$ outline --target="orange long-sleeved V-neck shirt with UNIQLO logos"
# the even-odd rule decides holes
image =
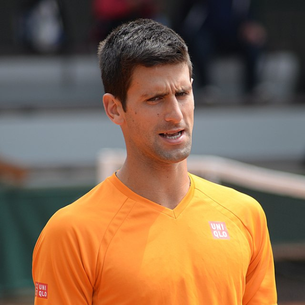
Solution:
[[[190,178],[173,210],[113,174],[57,211],[34,250],[35,304],[276,304],[261,206]]]

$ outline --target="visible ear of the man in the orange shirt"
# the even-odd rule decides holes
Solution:
[[[124,110],[121,102],[112,94],[106,93],[103,96],[103,104],[107,116],[114,124],[122,125],[124,123]]]

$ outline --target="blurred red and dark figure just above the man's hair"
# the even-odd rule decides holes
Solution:
[[[156,0],[93,0],[94,40],[100,42],[116,26],[136,18],[157,19]]]

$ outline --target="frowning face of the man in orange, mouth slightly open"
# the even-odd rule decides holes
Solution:
[[[187,64],[135,68],[126,105],[121,128],[129,157],[164,164],[189,156],[194,97]]]

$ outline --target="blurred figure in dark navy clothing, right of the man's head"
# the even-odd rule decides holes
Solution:
[[[250,0],[185,0],[177,31],[187,41],[195,71],[195,87],[210,85],[212,56],[240,54],[245,61],[244,90],[252,94],[258,84],[258,60],[266,32],[253,16]]]

